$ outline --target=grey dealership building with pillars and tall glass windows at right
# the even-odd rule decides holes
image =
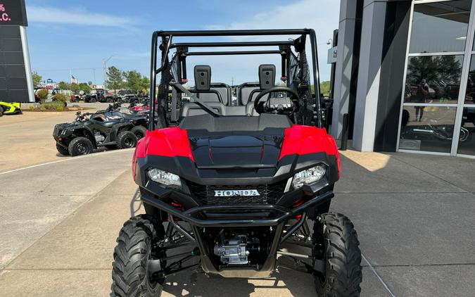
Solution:
[[[471,0],[341,0],[331,134],[475,158],[474,34]]]

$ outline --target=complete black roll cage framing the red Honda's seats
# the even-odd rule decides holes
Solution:
[[[300,38],[310,37],[312,49],[312,74],[314,83],[315,107],[314,114],[317,115],[316,125],[322,127],[322,114],[320,112],[320,84],[317,53],[317,35],[313,29],[276,29],[276,30],[191,30],[191,31],[155,31],[152,34],[151,46],[151,72],[150,72],[150,125],[149,129],[153,131],[156,127],[156,80],[157,75],[166,67],[167,56],[170,49],[188,48],[188,47],[237,47],[237,46],[295,46],[296,39],[283,41],[264,41],[264,42],[183,42],[172,43],[173,37],[232,37],[232,36],[271,36],[271,35],[300,35]],[[161,37],[160,50],[162,59],[160,67],[157,68],[158,37]],[[281,53],[281,51],[206,51],[206,52],[187,52],[187,56],[210,56],[210,55],[251,55],[264,53]],[[284,68],[284,65],[282,65]],[[157,105],[161,102],[157,98]]]

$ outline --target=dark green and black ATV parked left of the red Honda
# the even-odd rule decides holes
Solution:
[[[73,122],[54,126],[53,137],[61,155],[80,156],[94,148],[133,148],[137,145],[133,128],[132,122],[119,116],[78,111]]]

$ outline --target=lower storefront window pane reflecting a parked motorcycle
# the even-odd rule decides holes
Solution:
[[[404,106],[399,149],[450,153],[455,107]]]

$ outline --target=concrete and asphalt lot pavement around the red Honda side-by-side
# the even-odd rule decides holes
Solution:
[[[13,135],[8,141],[37,129],[13,148],[0,143],[6,159],[21,160],[0,161],[1,296],[108,296],[115,238],[128,217],[143,212],[130,172],[132,150],[56,156],[51,125],[72,115],[32,120],[25,113],[17,125],[13,117],[0,119],[1,130]],[[22,159],[25,148],[31,155]],[[465,158],[343,153],[332,209],[355,223],[364,255],[362,296],[474,296],[473,172],[475,160]],[[167,279],[165,291],[315,296],[310,275],[284,268],[252,280],[208,279],[191,270]]]

